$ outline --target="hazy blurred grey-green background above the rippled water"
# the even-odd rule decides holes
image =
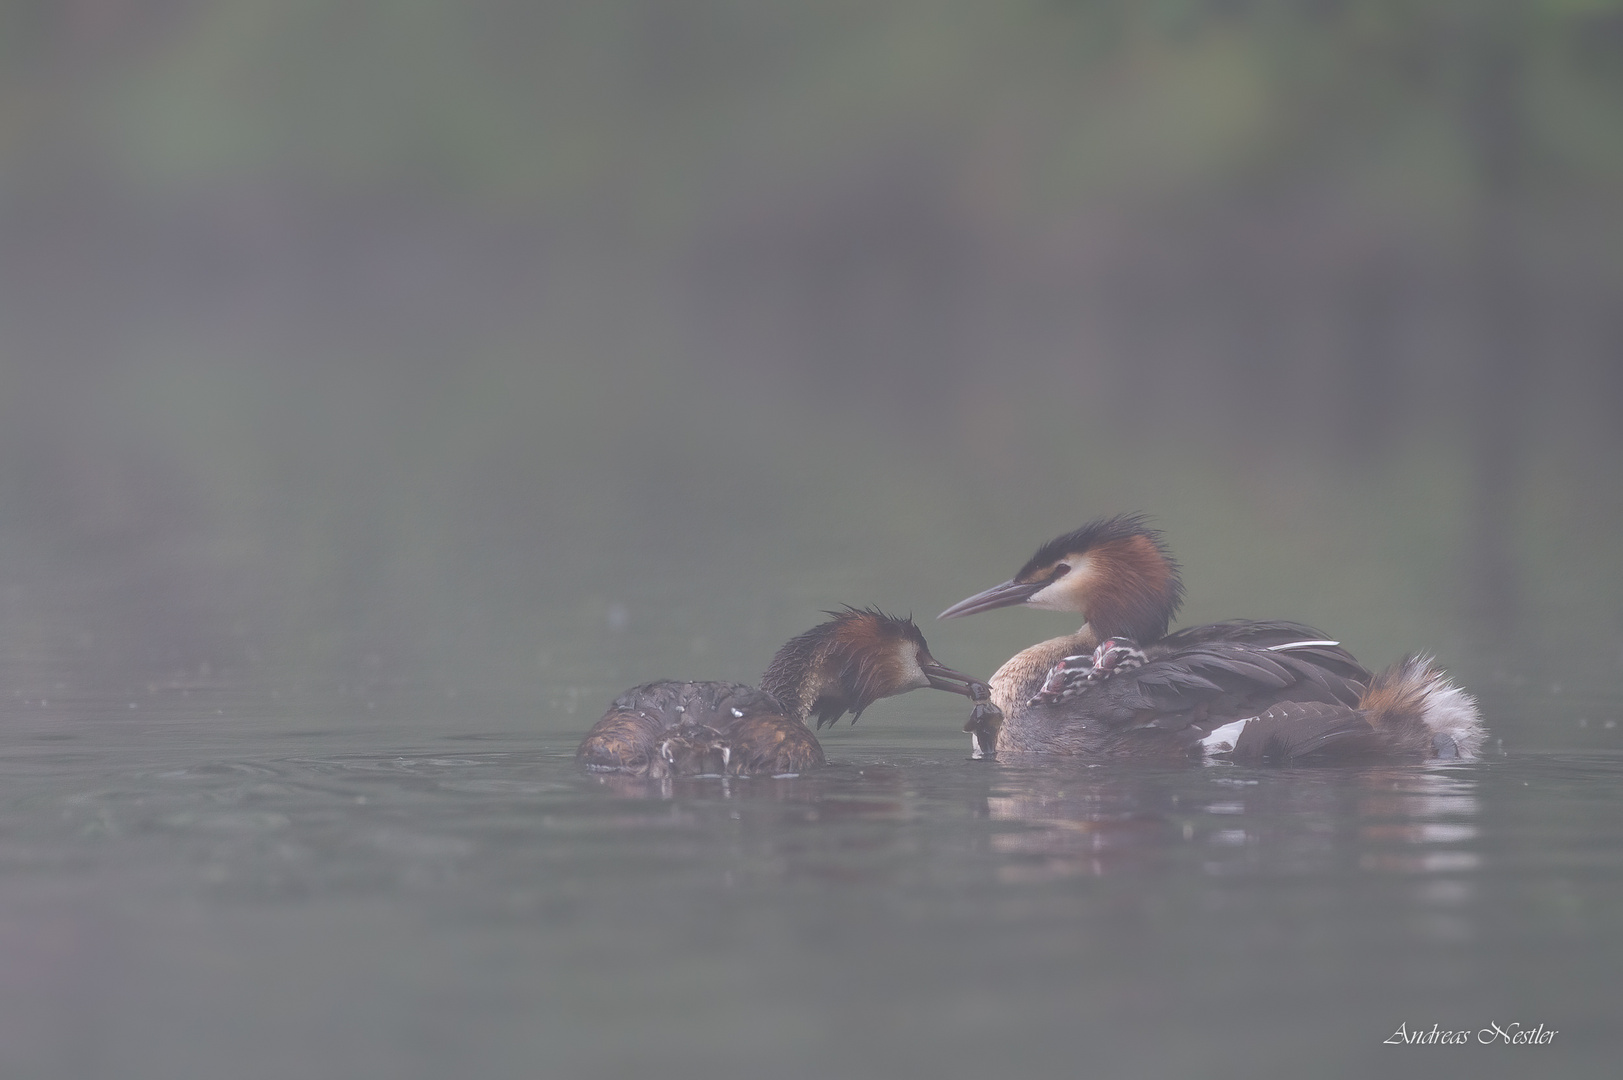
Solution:
[[[13,0],[0,664],[562,745],[1139,510],[1586,745],[1620,299],[1610,0]]]

